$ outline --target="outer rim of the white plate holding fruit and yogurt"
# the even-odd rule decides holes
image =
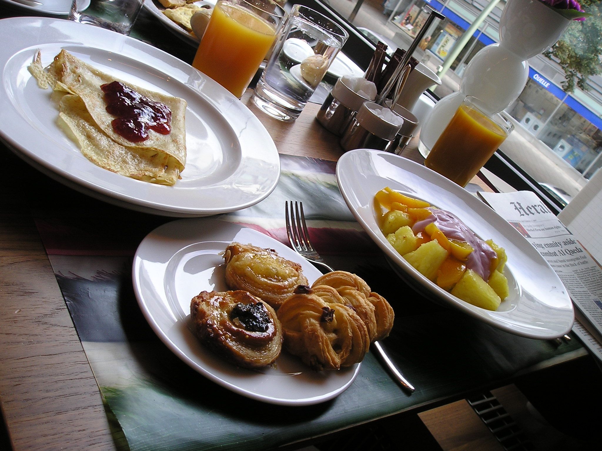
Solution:
[[[394,263],[396,263],[398,268],[400,268],[403,272],[405,272],[405,274],[407,274],[409,277],[411,277],[415,283],[420,284],[420,286],[423,287],[423,289],[425,289],[429,292],[429,295],[427,295],[427,297],[437,298],[439,300],[442,300],[445,302],[446,305],[450,305],[455,308],[458,308],[458,310],[463,311],[464,313],[470,315],[471,317],[473,317],[475,319],[479,319],[480,321],[483,321],[486,324],[489,324],[493,327],[499,328],[500,330],[503,330],[503,331],[506,331],[508,333],[512,333],[512,334],[515,334],[518,336],[523,336],[523,337],[532,338],[532,339],[556,339],[558,337],[562,337],[563,335],[565,335],[565,334],[569,333],[569,331],[571,331],[571,328],[573,327],[573,324],[574,324],[574,306],[573,306],[573,301],[571,301],[571,299],[568,296],[568,292],[566,292],[566,289],[563,290],[563,295],[564,295],[563,297],[566,299],[566,308],[564,308],[563,311],[566,311],[567,314],[568,314],[568,311],[570,311],[572,319],[571,319],[571,321],[567,322],[567,324],[565,325],[565,329],[562,331],[562,333],[558,333],[558,332],[552,333],[553,331],[551,330],[549,325],[547,327],[548,333],[541,333],[541,332],[538,333],[536,331],[536,328],[533,325],[528,325],[529,331],[518,330],[517,328],[512,328],[509,325],[506,325],[503,322],[496,320],[496,318],[494,316],[492,316],[492,314],[493,315],[504,314],[503,311],[485,310],[480,307],[477,307],[476,305],[469,304],[466,301],[462,301],[462,299],[456,298],[456,296],[453,296],[453,295],[451,295],[451,293],[448,293],[447,291],[436,286],[435,283],[433,283],[432,281],[430,281],[426,277],[424,277],[422,274],[420,274],[420,272],[418,272],[413,266],[409,265],[409,263],[407,263],[405,261],[405,259],[403,259],[403,257],[399,255],[399,253],[397,253],[394,250],[389,249],[382,242],[382,239],[380,239],[380,237],[376,234],[376,232],[374,230],[371,230],[371,228],[368,226],[368,224],[364,221],[364,218],[362,218],[362,216],[359,214],[359,212],[356,211],[355,207],[353,207],[353,203],[350,201],[349,193],[347,192],[347,189],[346,189],[347,187],[343,186],[344,184],[341,184],[340,171],[341,171],[342,165],[345,164],[345,162],[348,159],[351,159],[356,154],[362,153],[362,152],[373,153],[373,155],[386,155],[386,156],[388,156],[388,158],[394,158],[396,160],[399,159],[399,161],[402,162],[402,165],[397,166],[397,167],[402,168],[403,170],[410,171],[408,169],[408,167],[409,167],[409,168],[416,168],[416,169],[420,168],[421,171],[427,171],[429,173],[429,175],[435,177],[436,180],[441,182],[444,185],[444,188],[449,187],[452,190],[462,189],[465,192],[463,197],[467,200],[467,203],[482,202],[482,201],[480,201],[478,198],[474,197],[468,191],[465,191],[464,188],[459,187],[458,185],[451,182],[450,180],[445,179],[445,177],[442,177],[440,174],[435,173],[435,171],[432,171],[429,168],[426,168],[423,165],[418,164],[417,162],[414,162],[403,156],[396,155],[394,153],[382,152],[382,151],[374,150],[374,149],[355,149],[355,150],[351,150],[349,152],[344,153],[343,156],[341,156],[341,158],[337,162],[337,169],[336,169],[337,183],[339,185],[341,194],[343,195],[343,198],[344,198],[347,206],[353,213],[353,216],[356,218],[356,220],[362,226],[362,229],[364,229],[364,231],[368,234],[368,236],[370,236],[370,238],[374,241],[374,243],[383,251],[383,253],[386,254],[386,257],[388,257],[388,259],[390,259]],[[343,161],[343,163],[341,163],[341,165],[340,165],[341,161]],[[406,167],[402,167],[402,166],[406,166]],[[421,177],[421,179],[424,180],[422,177]],[[424,180],[424,181],[427,182],[426,180]],[[430,183],[430,182],[427,182],[427,183]],[[464,198],[462,200],[464,200]],[[486,206],[486,204],[483,203],[483,206]],[[491,209],[491,212],[488,212],[488,213],[490,215],[494,216],[495,218],[497,218],[497,220],[503,221],[504,224],[507,224],[507,221],[502,216],[500,216],[497,212],[495,212],[493,209]],[[481,215],[479,215],[479,216],[482,218]],[[486,221],[485,218],[482,218],[482,219]],[[489,221],[486,221],[486,222],[489,222]],[[512,225],[510,225],[510,224],[507,224],[507,226],[512,227]],[[506,226],[504,225],[504,228],[505,227]],[[507,229],[507,230],[510,230],[510,229]],[[515,232],[517,234],[517,235],[515,235],[517,239],[524,240],[524,244],[528,245],[529,247],[532,247],[532,245],[523,236],[521,236],[520,233],[518,233],[518,231],[514,229],[514,227],[512,227],[512,232],[511,232],[512,235],[514,235]],[[382,235],[382,233],[381,233],[381,235]],[[539,253],[537,255],[539,256]],[[559,284],[560,286],[563,286],[562,281],[560,281],[560,278],[558,277],[556,272],[554,272],[554,270],[551,268],[549,263],[546,262],[545,259],[541,256],[539,256],[538,259],[541,259],[538,263],[544,264],[545,266],[547,266],[547,271],[554,278],[554,280],[557,282],[557,284]],[[521,298],[522,298],[522,296],[521,296]],[[479,314],[480,311],[490,312],[490,313],[487,315]],[[568,318],[568,316],[567,316],[567,318]],[[527,324],[523,324],[523,326],[526,327]]]

